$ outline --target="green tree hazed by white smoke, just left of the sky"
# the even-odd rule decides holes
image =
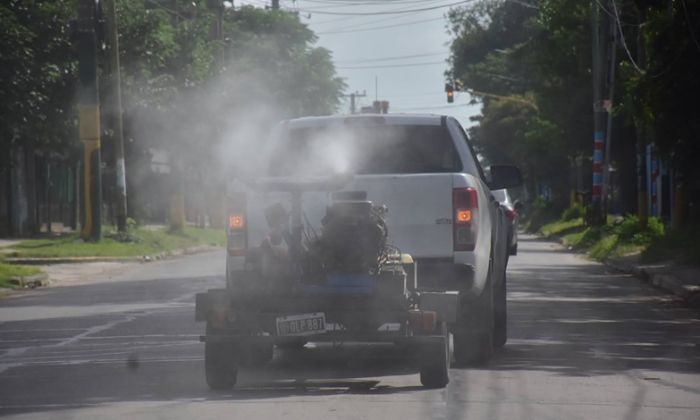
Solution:
[[[201,1],[119,7],[130,152],[166,150],[169,188],[197,202],[220,196],[228,167],[254,162],[275,121],[333,112],[344,89],[330,52],[312,46],[295,14],[228,7],[219,32],[218,12]]]

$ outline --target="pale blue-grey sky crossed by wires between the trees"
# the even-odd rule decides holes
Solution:
[[[376,99],[389,112],[452,115],[465,127],[479,113],[469,94],[456,93],[448,104],[444,72],[450,36],[445,17],[457,0],[280,0],[282,9],[298,11],[317,34],[317,46],[329,49],[347,93],[366,93],[357,108]],[[238,0],[264,7],[269,0]],[[339,110],[349,112],[349,100]]]

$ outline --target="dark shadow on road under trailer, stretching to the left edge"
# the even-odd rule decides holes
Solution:
[[[393,346],[348,344],[276,350],[262,367],[241,368],[236,388],[210,391],[202,360],[143,360],[79,365],[33,365],[3,375],[0,412],[27,413],[134,401],[248,400],[343,394],[386,395],[418,391],[417,382],[390,386],[385,376],[415,368]]]

